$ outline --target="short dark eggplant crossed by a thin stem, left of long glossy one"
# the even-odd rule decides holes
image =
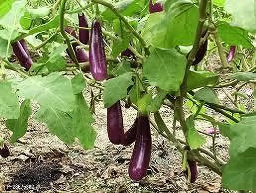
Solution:
[[[88,21],[84,13],[81,15],[78,14],[79,20],[79,41],[83,44],[87,44],[90,39],[89,29],[81,29],[81,28],[89,28]]]

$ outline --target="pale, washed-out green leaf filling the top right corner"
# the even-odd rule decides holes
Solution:
[[[232,15],[232,26],[243,28],[249,32],[256,32],[256,15],[254,0],[226,0],[225,9]]]

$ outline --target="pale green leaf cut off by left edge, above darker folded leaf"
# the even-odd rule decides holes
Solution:
[[[11,83],[0,81],[0,117],[17,119],[19,117],[19,103],[12,91]]]

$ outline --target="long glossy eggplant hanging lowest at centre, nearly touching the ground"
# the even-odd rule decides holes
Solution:
[[[129,176],[134,181],[140,181],[147,175],[151,159],[151,130],[148,116],[138,117],[136,142],[129,164]]]

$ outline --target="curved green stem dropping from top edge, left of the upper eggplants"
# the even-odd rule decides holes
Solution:
[[[65,14],[65,4],[66,4],[66,2],[67,2],[67,0],[61,0],[61,4],[60,4],[60,33],[68,44],[68,49],[70,51],[70,55],[71,55],[72,60],[75,62],[75,66],[78,69],[81,69],[81,67],[80,67],[80,65],[77,61],[77,58],[75,56],[75,51],[74,51],[74,49],[73,49],[73,47],[70,43],[70,40],[69,40],[67,34],[64,31],[64,14]]]

